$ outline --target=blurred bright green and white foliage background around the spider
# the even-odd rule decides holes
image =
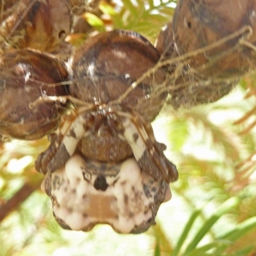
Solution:
[[[112,28],[138,31],[154,42],[176,2],[102,1],[100,10]],[[94,14],[84,17],[96,30],[107,26]],[[171,184],[173,198],[161,205],[156,227],[145,234],[120,235],[105,225],[88,233],[62,230],[33,167],[47,140],[1,143],[0,204],[13,196],[20,204],[1,221],[0,256],[255,255],[255,82],[255,74],[244,77],[214,104],[179,111],[164,106],[154,131],[180,177]],[[35,185],[26,198],[17,193],[24,184]]]

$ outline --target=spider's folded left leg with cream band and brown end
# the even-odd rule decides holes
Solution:
[[[61,168],[76,152],[81,138],[90,134],[89,118],[87,113],[67,118],[60,128],[60,134],[53,136],[51,145],[36,159],[36,170],[47,173]]]

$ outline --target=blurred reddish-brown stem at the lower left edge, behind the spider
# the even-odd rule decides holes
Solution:
[[[36,184],[25,183],[7,202],[0,205],[0,222],[10,214],[13,210],[19,207],[33,191],[40,187],[40,183]]]

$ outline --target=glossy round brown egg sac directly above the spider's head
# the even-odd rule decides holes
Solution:
[[[115,30],[87,40],[70,61],[70,94],[77,99],[100,105],[116,100],[131,84],[159,61],[156,48],[140,34]],[[138,111],[147,120],[159,113],[166,93],[160,90],[164,70],[155,70],[124,97],[120,106]]]

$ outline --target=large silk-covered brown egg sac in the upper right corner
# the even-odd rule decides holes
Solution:
[[[177,86],[177,90],[170,91],[170,103],[175,108],[220,99],[230,92],[239,76],[255,67],[256,54],[239,45],[241,38],[256,42],[255,0],[179,1],[172,23],[166,25],[157,42],[157,49],[166,59],[180,56],[177,65],[184,61],[182,55],[216,43],[244,26],[252,28],[250,38],[246,38],[248,33],[244,30],[232,40],[186,59],[180,76],[170,81],[170,85]],[[175,65],[170,70],[174,72]]]

